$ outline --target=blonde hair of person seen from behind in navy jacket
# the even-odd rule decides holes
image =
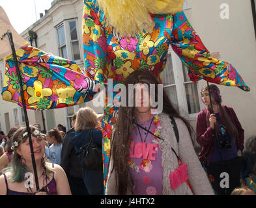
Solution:
[[[76,116],[76,123],[74,125],[75,131],[95,129],[99,125],[97,116],[98,114],[89,107],[79,109]]]

